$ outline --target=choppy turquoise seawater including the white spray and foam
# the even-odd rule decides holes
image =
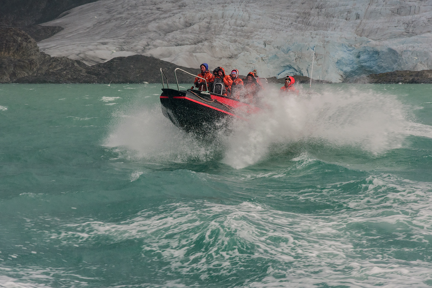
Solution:
[[[432,85],[269,90],[206,141],[160,88],[0,85],[1,287],[432,286]]]

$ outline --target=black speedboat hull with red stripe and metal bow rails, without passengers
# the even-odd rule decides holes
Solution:
[[[178,70],[200,78],[200,76],[177,68],[174,70],[176,81]],[[178,81],[177,90],[171,89],[168,87],[168,79],[162,68],[160,71],[163,87],[160,96],[162,113],[186,132],[206,134],[209,131],[226,127],[233,119],[246,120],[248,113],[256,113],[259,110],[249,103],[214,91],[180,90]],[[164,77],[167,88],[165,88]]]

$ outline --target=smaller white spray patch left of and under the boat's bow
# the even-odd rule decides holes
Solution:
[[[114,119],[117,123],[104,145],[119,147],[128,158],[154,163],[207,161],[217,150],[214,144],[204,145],[175,127],[162,115],[159,103],[133,111],[118,110]]]

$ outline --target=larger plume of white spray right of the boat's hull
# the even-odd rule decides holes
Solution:
[[[400,147],[407,121],[391,95],[373,91],[326,89],[281,96],[269,91],[268,109],[232,134],[224,162],[235,168],[256,163],[272,144],[324,143],[378,154]]]

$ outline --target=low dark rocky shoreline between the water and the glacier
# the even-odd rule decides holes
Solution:
[[[40,25],[38,25],[40,26]],[[45,26],[41,26],[45,27]],[[44,30],[45,28],[39,28]],[[48,28],[48,34],[58,28]],[[162,68],[168,83],[175,83],[174,69],[192,74],[199,69],[177,66],[154,57],[133,55],[116,57],[105,63],[88,66],[67,57],[52,57],[40,52],[38,44],[28,33],[18,28],[0,29],[0,83],[160,83]],[[192,83],[193,77],[178,73],[178,81]],[[309,83],[310,78],[294,75],[296,83]],[[269,83],[283,84],[284,79],[268,78]],[[393,71],[346,79],[346,83],[432,83],[432,70]],[[330,83],[312,80],[312,83]]]

